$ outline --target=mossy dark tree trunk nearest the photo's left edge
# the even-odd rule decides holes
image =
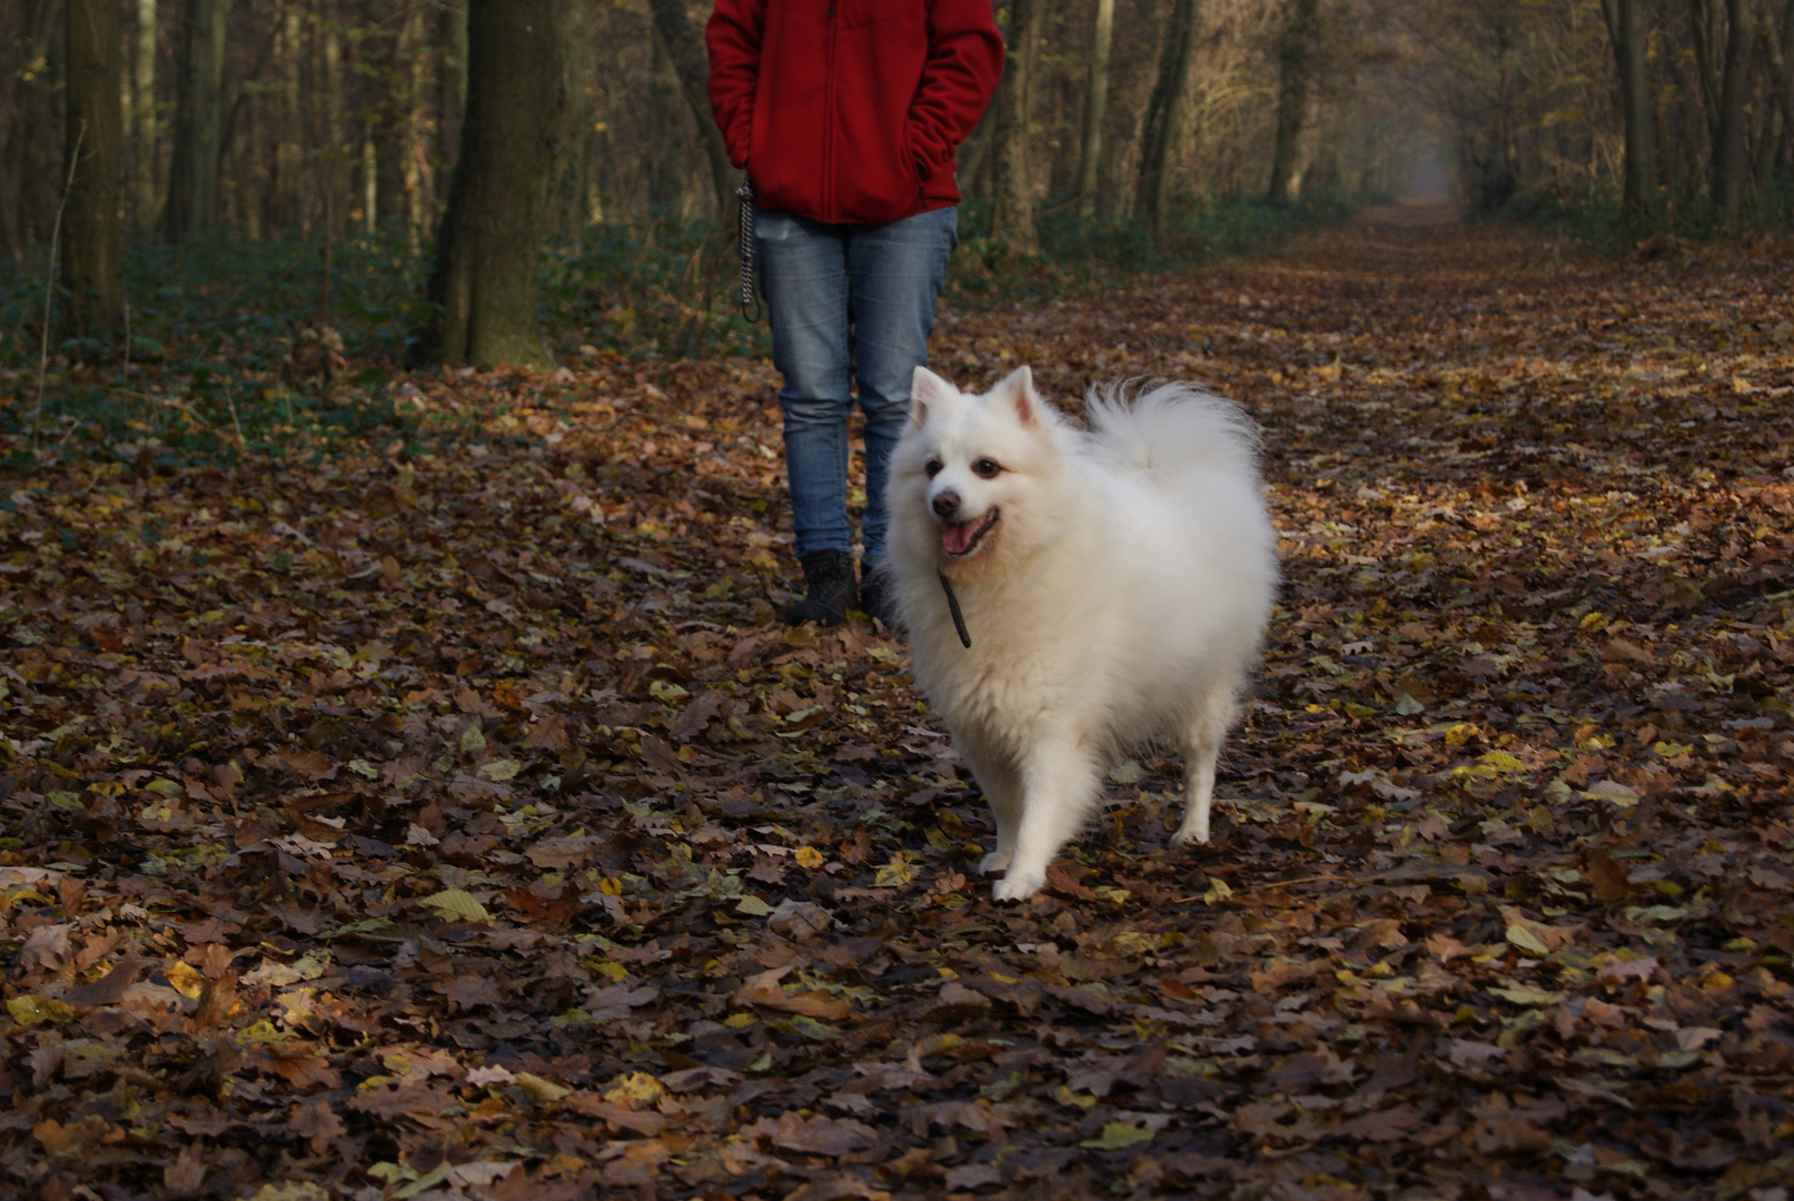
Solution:
[[[124,274],[118,190],[124,177],[124,113],[118,106],[118,0],[65,0],[68,106],[63,120],[63,287],[68,324],[83,337],[118,330]]]

